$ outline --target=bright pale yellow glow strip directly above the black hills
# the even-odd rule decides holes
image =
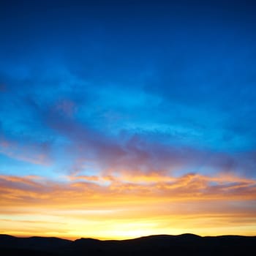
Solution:
[[[238,222],[241,217],[217,216],[170,216],[166,218],[143,219],[75,219],[72,217],[45,217],[40,221],[37,217],[20,219],[1,219],[1,233],[14,236],[58,236],[76,239],[81,237],[105,239],[127,239],[157,234],[178,235],[195,233],[200,236],[218,236],[239,234],[255,236],[256,217],[247,223]],[[21,220],[22,219],[22,220]],[[34,220],[29,220],[34,219]],[[245,218],[246,219],[246,218]],[[237,222],[235,225],[233,222]]]

